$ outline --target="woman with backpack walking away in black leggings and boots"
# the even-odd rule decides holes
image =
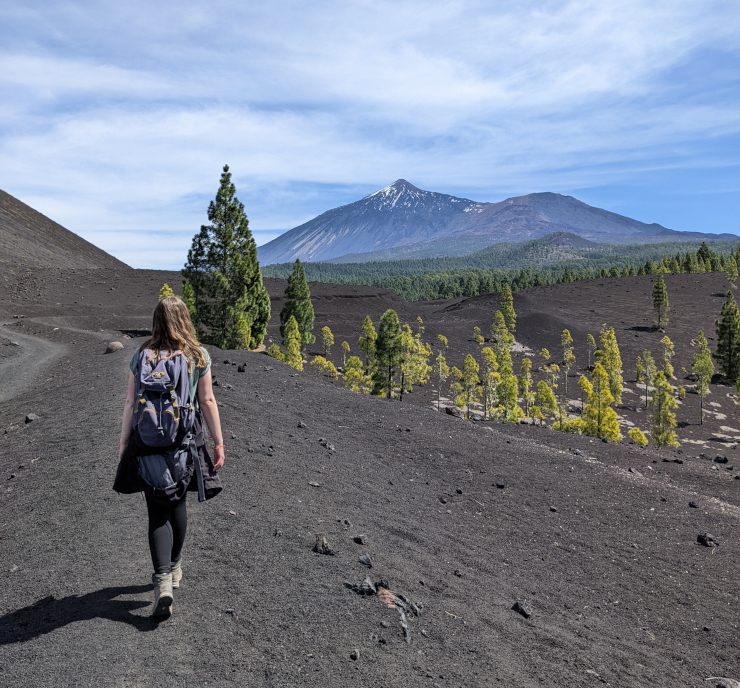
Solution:
[[[119,466],[113,489],[144,492],[154,566],[154,611],[172,613],[182,579],[186,496],[204,501],[221,491],[224,441],[213,396],[211,358],[195,338],[190,314],[176,296],[154,309],[152,335],[134,353],[123,412]],[[203,419],[213,438],[206,447]]]

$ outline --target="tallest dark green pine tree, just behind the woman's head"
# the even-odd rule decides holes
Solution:
[[[243,339],[246,325],[248,348],[255,348],[267,331],[270,297],[228,165],[224,165],[216,199],[208,206],[208,220],[211,224],[203,225],[193,237],[182,270],[183,296],[187,287],[192,288],[192,300],[188,297],[186,303],[194,316],[193,326],[203,343],[229,349]]]

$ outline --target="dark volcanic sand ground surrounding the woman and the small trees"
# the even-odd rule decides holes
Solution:
[[[189,498],[185,578],[173,617],[155,624],[144,503],[111,484],[128,360],[159,287],[177,290],[177,275],[18,269],[4,277],[4,685],[702,686],[740,678],[732,387],[712,386],[708,400],[719,406],[703,427],[698,399],[687,395],[680,449],[643,450],[467,422],[433,410],[428,387],[390,402],[263,354],[211,348],[225,490],[206,504]],[[700,328],[714,336],[724,280],[666,281],[674,384],[688,385],[681,368]],[[275,340],[282,287],[268,281]],[[546,346],[557,359],[568,327],[582,366],[586,333],[615,327],[631,390],[618,408],[624,430],[627,422],[647,429],[630,371],[646,347],[659,357],[651,287],[638,277],[515,295],[517,340],[534,352]],[[332,328],[335,362],[344,339],[356,352],[365,315],[377,324],[395,308],[412,324],[421,315],[429,341],[447,335],[459,365],[477,350],[472,328],[486,333],[498,305],[496,296],[406,304],[369,287],[311,288],[315,332]],[[104,354],[111,340],[123,351]],[[320,351],[317,342],[311,353]],[[576,381],[574,372],[573,398]],[[27,414],[38,418],[25,423]],[[697,542],[707,532],[718,546]],[[312,551],[317,534],[333,556]],[[365,544],[353,539],[360,535]],[[366,576],[420,608],[416,616],[407,605],[409,642],[396,609],[351,588]],[[517,601],[529,618],[512,609]]]

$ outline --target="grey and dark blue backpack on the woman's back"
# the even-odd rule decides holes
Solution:
[[[192,432],[195,407],[190,398],[188,360],[181,351],[139,353],[132,426],[140,444],[174,448]]]

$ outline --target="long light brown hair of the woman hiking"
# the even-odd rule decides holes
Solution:
[[[140,347],[139,351],[150,349],[153,358],[159,359],[160,352],[180,350],[188,359],[188,373],[197,368],[205,368],[206,356],[195,337],[195,328],[190,320],[190,312],[185,302],[177,296],[167,296],[154,309],[152,317],[152,336]]]

